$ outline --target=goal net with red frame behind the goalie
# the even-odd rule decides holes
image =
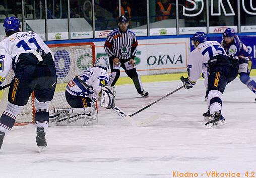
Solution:
[[[95,61],[95,46],[93,43],[71,43],[48,45],[52,50],[57,73],[57,85],[52,101],[49,102],[49,110],[53,108],[70,108],[65,98],[67,83],[76,75],[83,74],[84,70],[91,67]],[[9,84],[14,78],[14,72],[10,71],[5,83]],[[0,91],[0,114],[8,105],[9,88]],[[16,125],[25,125],[34,122],[34,96],[31,95],[28,103],[17,116]]]

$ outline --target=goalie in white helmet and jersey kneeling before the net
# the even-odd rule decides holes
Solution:
[[[97,58],[94,67],[87,68],[80,76],[74,77],[66,87],[66,99],[71,108],[94,108],[89,109],[90,112],[80,114],[50,114],[50,121],[56,125],[65,126],[80,126],[94,124],[98,121],[98,114],[95,107],[95,102],[99,98],[101,87],[107,85],[109,75],[108,60],[105,57]],[[78,110],[78,109],[76,109]],[[73,109],[74,111],[74,109]]]

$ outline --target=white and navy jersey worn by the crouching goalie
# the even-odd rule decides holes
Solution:
[[[73,78],[67,85],[66,91],[71,95],[89,97],[93,102],[98,99],[98,94],[101,91],[102,85],[107,85],[109,81],[109,75],[106,70],[99,67],[89,67],[85,70],[84,74],[79,76],[87,85],[92,87],[94,92],[84,86],[79,80]]]

